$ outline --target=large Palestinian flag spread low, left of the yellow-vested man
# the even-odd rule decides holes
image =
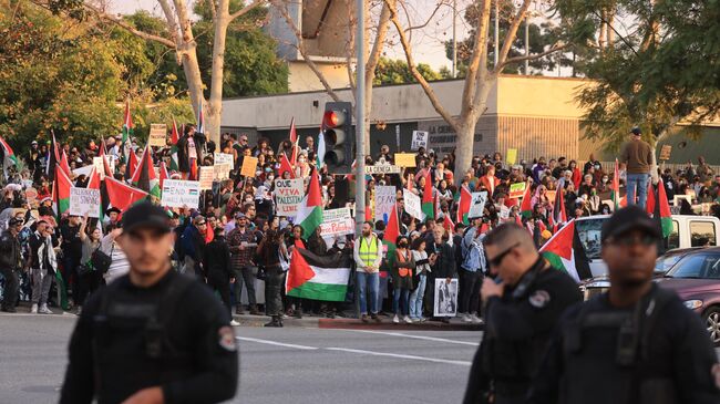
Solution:
[[[296,248],[285,281],[286,294],[302,299],[344,301],[351,266],[352,258],[349,255],[319,257],[304,248]]]

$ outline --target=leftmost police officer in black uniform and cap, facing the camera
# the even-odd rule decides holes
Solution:
[[[203,283],[171,269],[167,215],[128,209],[117,241],[130,273],[93,294],[70,341],[60,403],[217,403],[235,395],[230,317]]]

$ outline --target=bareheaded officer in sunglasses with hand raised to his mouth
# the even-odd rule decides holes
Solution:
[[[524,403],[553,325],[582,294],[569,276],[552,269],[527,230],[516,224],[487,234],[484,246],[495,279],[483,281],[485,333],[464,403]]]

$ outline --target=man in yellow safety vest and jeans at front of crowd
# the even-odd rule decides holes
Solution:
[[[369,322],[370,318],[378,319],[378,291],[380,290],[380,261],[382,260],[382,244],[378,235],[372,232],[372,222],[362,224],[362,236],[354,244],[353,257],[357,267],[358,293],[360,294],[360,320]],[[367,297],[366,292],[370,296]],[[368,299],[370,302],[368,304]]]

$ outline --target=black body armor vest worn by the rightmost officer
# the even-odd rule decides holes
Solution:
[[[588,396],[588,384],[615,386],[603,389],[605,402],[614,404],[673,404],[677,403],[672,379],[664,372],[661,355],[649,354],[650,336],[662,307],[675,294],[652,286],[631,311],[608,312],[604,310],[605,294],[586,302],[577,318],[563,330],[563,354],[565,373],[587,377],[588,383],[572,383],[560,391],[560,402],[582,403]],[[599,329],[617,333],[614,360],[606,358],[609,344],[597,343]],[[589,343],[595,338],[596,343]],[[607,342],[607,341],[606,341]]]

